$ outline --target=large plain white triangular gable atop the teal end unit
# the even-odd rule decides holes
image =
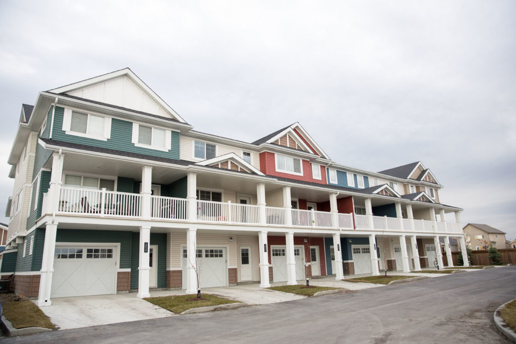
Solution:
[[[128,68],[50,91],[185,122]]]

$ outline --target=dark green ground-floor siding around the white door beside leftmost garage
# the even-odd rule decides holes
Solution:
[[[158,245],[157,287],[167,287],[167,234],[151,233],[149,245]],[[131,255],[131,289],[138,289],[138,265],[140,254],[140,233],[133,232]]]

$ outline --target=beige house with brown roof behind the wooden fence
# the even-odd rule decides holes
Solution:
[[[469,223],[463,228],[467,247],[471,249],[488,249],[492,244],[496,248],[508,248],[505,232],[480,223]]]

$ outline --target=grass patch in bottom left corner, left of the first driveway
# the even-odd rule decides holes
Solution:
[[[16,329],[25,327],[45,327],[55,330],[55,326],[49,318],[39,309],[34,302],[29,300],[13,301],[2,297],[3,315],[9,319]]]

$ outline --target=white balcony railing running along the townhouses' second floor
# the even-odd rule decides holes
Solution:
[[[53,209],[50,197],[43,197],[44,213]],[[151,196],[151,220],[187,222],[188,200],[165,196]],[[88,190],[61,187],[57,205],[58,214],[87,215],[101,217],[142,217],[142,195],[106,190]],[[386,216],[334,214],[331,212],[292,209],[291,216],[286,208],[263,207],[265,218],[261,219],[261,207],[257,205],[234,204],[196,200],[195,221],[210,224],[238,224],[269,227],[287,227],[292,222],[295,228],[374,230],[387,232],[462,233],[460,224],[424,220],[411,220]],[[263,223],[262,223],[263,221]],[[335,223],[335,221],[337,223]]]

